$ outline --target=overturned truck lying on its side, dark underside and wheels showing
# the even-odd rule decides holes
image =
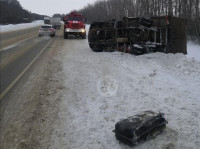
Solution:
[[[122,51],[135,55],[165,52],[187,54],[185,19],[162,16],[124,17],[122,21],[93,22],[88,43],[95,52]]]

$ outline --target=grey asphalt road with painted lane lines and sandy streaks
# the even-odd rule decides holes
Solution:
[[[34,27],[1,34],[0,98],[56,38],[38,37],[38,29]]]

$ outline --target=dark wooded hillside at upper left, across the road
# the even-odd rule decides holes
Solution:
[[[44,15],[23,9],[17,0],[0,0],[0,24],[17,24],[43,19]]]

